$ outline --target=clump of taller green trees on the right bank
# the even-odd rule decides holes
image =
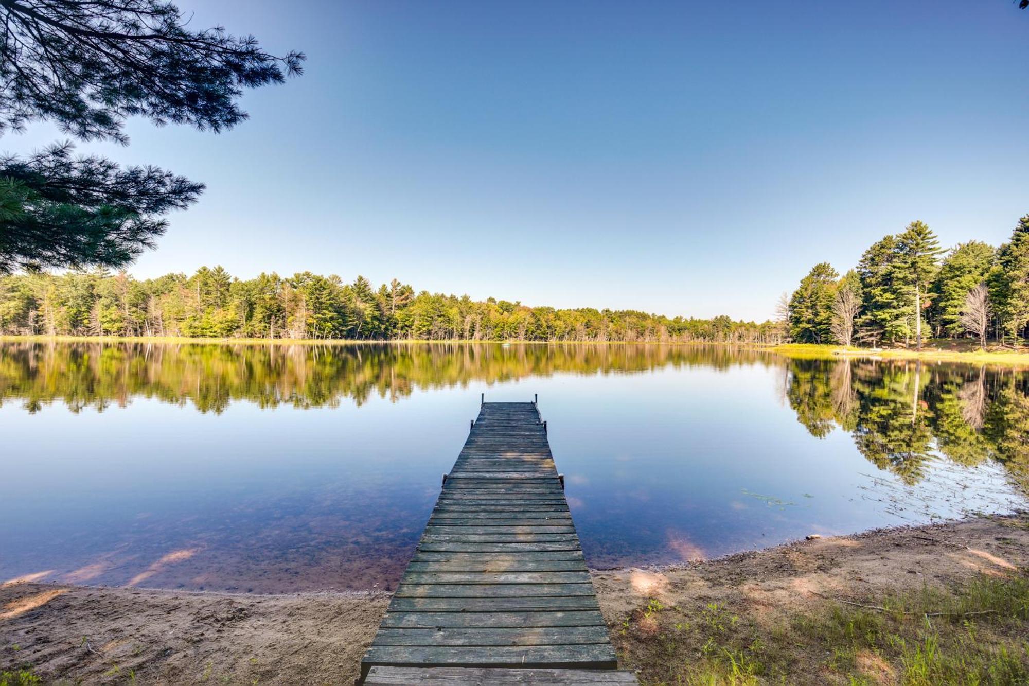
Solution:
[[[999,248],[969,241],[944,250],[915,221],[872,245],[843,277],[816,265],[779,309],[800,343],[1017,343],[1029,334],[1029,215]]]

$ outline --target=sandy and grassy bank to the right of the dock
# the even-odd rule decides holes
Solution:
[[[594,573],[641,684],[1029,683],[1026,514]]]

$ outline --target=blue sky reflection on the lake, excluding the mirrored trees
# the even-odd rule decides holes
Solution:
[[[0,582],[280,592],[391,589],[440,475],[488,400],[540,396],[595,567],[673,562],[807,534],[1025,505],[1004,470],[938,457],[904,485],[837,428],[814,438],[784,369],[561,373],[416,388],[398,402],[221,414],[135,399],[0,407]],[[913,386],[914,387],[914,386]]]

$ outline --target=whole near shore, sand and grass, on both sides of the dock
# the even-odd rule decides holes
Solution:
[[[592,574],[622,666],[642,684],[923,683],[904,677],[981,667],[1016,679],[997,683],[1024,683],[1027,565],[1021,513]],[[12,580],[0,584],[0,673],[349,685],[389,599]],[[935,662],[920,664],[926,641]]]

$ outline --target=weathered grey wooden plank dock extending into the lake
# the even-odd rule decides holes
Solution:
[[[626,684],[536,403],[483,403],[365,684]]]

